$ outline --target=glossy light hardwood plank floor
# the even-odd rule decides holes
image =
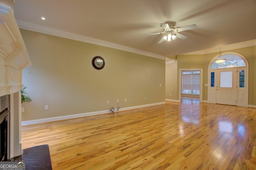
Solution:
[[[53,170],[256,170],[256,109],[166,104],[22,127],[49,145]]]

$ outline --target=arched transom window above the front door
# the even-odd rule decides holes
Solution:
[[[222,58],[226,59],[226,61],[224,61],[224,63],[216,63],[215,61],[212,62],[211,69],[244,67],[245,66],[244,60],[237,55],[226,54],[226,55],[222,55]]]

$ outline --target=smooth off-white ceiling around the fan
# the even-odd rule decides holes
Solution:
[[[14,16],[20,28],[160,57],[256,39],[256,0],[15,0]],[[162,44],[144,35],[166,22],[198,28]]]

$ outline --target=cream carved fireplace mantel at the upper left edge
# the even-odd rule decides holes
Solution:
[[[22,88],[22,69],[30,57],[11,7],[0,4],[0,96]]]

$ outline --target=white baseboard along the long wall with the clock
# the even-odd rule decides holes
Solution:
[[[118,111],[139,109],[142,107],[156,106],[156,105],[161,105],[161,104],[165,104],[165,102],[159,102],[159,103],[154,103],[154,104],[145,104],[145,105],[132,106],[132,107],[124,107],[124,108],[118,109]],[[117,111],[117,109],[115,109],[115,112],[118,112],[118,111]],[[48,123],[48,122],[52,122],[52,121],[74,119],[74,118],[80,118],[80,117],[86,117],[86,116],[92,116],[92,115],[101,115],[101,114],[106,114],[106,113],[110,113],[109,110],[94,111],[94,112],[79,113],[79,114],[74,114],[74,115],[65,115],[65,116],[58,116],[58,117],[49,117],[49,118],[44,118],[44,119],[22,121],[21,125],[22,126],[35,125],[35,124],[40,124],[40,123]]]

